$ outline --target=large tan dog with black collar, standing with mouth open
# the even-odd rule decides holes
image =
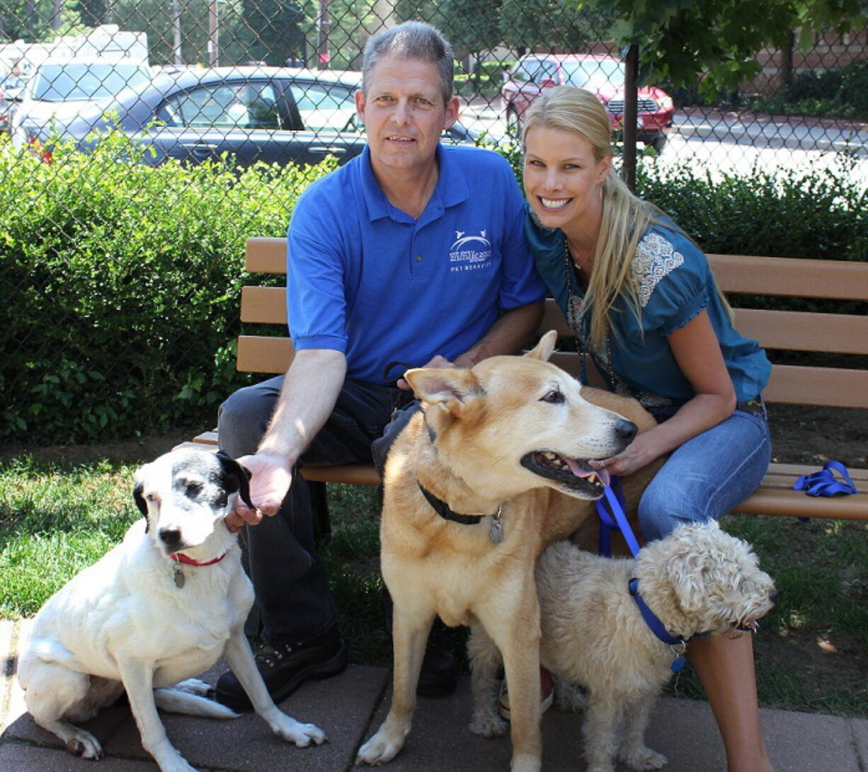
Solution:
[[[605,407],[589,402],[548,362],[555,340],[551,331],[524,357],[492,357],[470,370],[406,373],[423,410],[386,462],[380,532],[394,600],[394,693],[358,762],[387,762],[403,747],[439,615],[447,625],[482,625],[502,652],[511,769],[540,769],[536,557],[595,517],[602,484],[589,461],[621,453],[637,425],[654,422],[638,403],[605,392],[593,396]]]

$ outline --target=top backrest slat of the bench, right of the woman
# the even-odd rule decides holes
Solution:
[[[868,300],[865,263],[749,255],[707,257],[718,286],[725,292]]]

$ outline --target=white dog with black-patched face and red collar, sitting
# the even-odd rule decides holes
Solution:
[[[239,497],[253,506],[247,470],[222,454],[175,450],[138,471],[134,496],[144,519],[36,615],[18,666],[36,723],[71,752],[98,759],[96,738],[70,722],[88,720],[126,690],[141,744],[162,772],[194,772],[169,743],[157,708],[237,716],[192,678],[225,655],[276,734],[299,746],[322,743],[321,729],[274,705],[244,637],[253,586],[223,520]]]

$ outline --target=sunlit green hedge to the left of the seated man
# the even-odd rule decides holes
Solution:
[[[0,147],[0,443],[214,421],[234,370],[244,242],[279,236],[334,166],[149,167],[109,136],[52,163]]]

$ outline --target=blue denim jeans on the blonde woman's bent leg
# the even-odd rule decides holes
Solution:
[[[759,486],[772,457],[766,416],[736,410],[680,448],[654,475],[639,503],[645,541],[681,523],[720,520]]]

